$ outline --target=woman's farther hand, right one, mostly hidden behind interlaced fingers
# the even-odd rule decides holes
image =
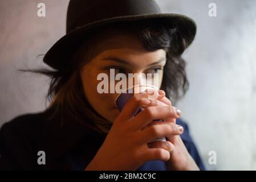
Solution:
[[[164,90],[161,90],[159,92],[162,92],[162,95],[164,95],[163,94]],[[166,97],[159,98],[158,100],[149,100],[150,103],[148,102],[148,104],[144,105],[144,107],[147,108],[147,107],[156,106],[156,105],[168,105],[170,108],[172,108],[171,110],[176,112],[176,114],[180,117],[181,111],[178,110],[176,107],[173,107],[171,102],[166,101],[166,99],[168,100],[168,98]],[[174,117],[165,118],[164,122],[157,122],[157,121],[151,122],[147,126],[145,126],[144,129],[146,127],[153,126],[153,125],[166,125],[166,123],[170,123],[172,126],[174,126],[173,124],[176,124],[176,118]],[[184,130],[183,127],[178,126],[178,128],[181,131],[180,134],[182,134]],[[166,167],[169,170],[199,170],[192,156],[190,156],[188,150],[186,150],[186,147],[182,142],[180,135],[174,135],[174,134],[166,135],[166,139],[167,139],[167,142],[159,142],[159,141],[151,142],[151,143],[148,143],[148,146],[152,148],[157,148],[157,147],[164,148],[164,146],[166,146],[167,143],[169,144],[171,148],[171,152],[170,152],[171,155],[170,155],[170,159],[167,162],[165,162]]]

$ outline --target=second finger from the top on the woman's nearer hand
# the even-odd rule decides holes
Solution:
[[[134,122],[133,125],[135,129],[140,130],[142,127],[155,119],[179,118],[180,116],[176,113],[175,108],[176,107],[173,106],[147,107],[137,114],[136,117],[134,117],[131,121]]]

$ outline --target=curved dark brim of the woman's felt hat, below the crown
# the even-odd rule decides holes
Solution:
[[[181,36],[186,40],[188,46],[193,42],[197,27],[194,20],[188,16],[170,13],[120,16],[86,24],[69,32],[48,50],[43,58],[43,62],[56,70],[62,70],[82,43],[83,38],[91,31],[95,30],[95,28],[114,22],[129,22],[156,18],[166,19],[166,22],[170,22],[173,26],[178,27],[178,31],[181,32]]]

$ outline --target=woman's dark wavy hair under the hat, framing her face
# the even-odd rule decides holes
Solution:
[[[84,39],[84,43],[80,44],[80,48],[74,53],[65,69],[58,71],[41,68],[20,69],[19,71],[41,73],[51,78],[47,93],[48,101],[51,102],[47,111],[52,111],[51,118],[60,118],[60,123],[67,121],[67,118],[72,118],[92,129],[106,133],[112,123],[101,117],[88,103],[79,75],[82,65],[90,61],[90,58],[88,58],[86,63],[82,62],[84,49],[87,49],[87,55],[94,55],[93,44],[95,38],[101,35],[102,29],[105,31],[107,28],[135,34],[148,51],[164,49],[167,61],[164,67],[161,89],[165,91],[166,97],[176,103],[188,90],[186,64],[181,57],[188,44],[180,34],[178,27],[171,22],[164,21],[162,19],[151,19],[108,24],[104,28],[95,30]]]

